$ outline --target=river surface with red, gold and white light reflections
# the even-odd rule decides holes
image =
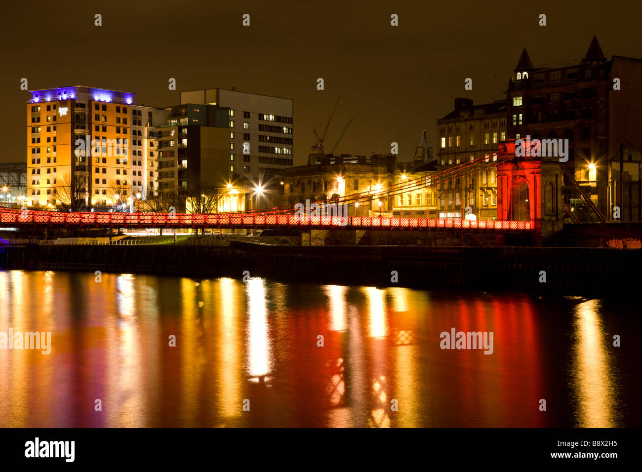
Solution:
[[[642,426],[633,301],[94,277],[0,272],[0,426]]]

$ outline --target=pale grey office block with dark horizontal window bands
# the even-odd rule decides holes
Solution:
[[[264,185],[281,179],[293,162],[293,101],[227,89],[180,92],[181,105],[209,105],[227,112],[227,178]],[[191,107],[190,105],[190,107]],[[244,143],[248,143],[245,146]],[[216,168],[220,166],[216,164]]]

